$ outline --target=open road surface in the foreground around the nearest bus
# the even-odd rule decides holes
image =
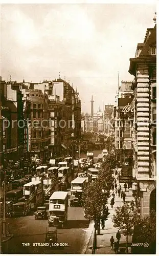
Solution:
[[[83,216],[82,207],[69,207],[68,220],[63,229],[57,230],[58,243],[68,243],[69,247],[33,247],[33,243],[44,243],[48,220],[34,220],[34,216],[7,219],[10,233],[14,237],[3,244],[4,253],[82,253],[87,240],[89,220]],[[22,246],[30,243],[30,246]]]

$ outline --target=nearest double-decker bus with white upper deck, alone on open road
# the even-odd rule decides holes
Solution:
[[[67,221],[68,211],[68,193],[65,191],[56,191],[49,199],[49,225],[58,226]]]

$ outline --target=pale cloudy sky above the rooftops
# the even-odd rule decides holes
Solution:
[[[39,82],[66,77],[80,93],[82,111],[90,99],[114,103],[146,29],[154,27],[150,4],[1,5],[1,75]]]

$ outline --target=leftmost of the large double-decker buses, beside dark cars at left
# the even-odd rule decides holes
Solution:
[[[43,182],[31,181],[24,185],[23,189],[24,198],[31,204],[31,209],[43,203]]]

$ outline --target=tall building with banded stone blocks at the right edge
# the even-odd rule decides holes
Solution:
[[[134,170],[141,218],[156,207],[156,25],[130,58],[134,76]]]

